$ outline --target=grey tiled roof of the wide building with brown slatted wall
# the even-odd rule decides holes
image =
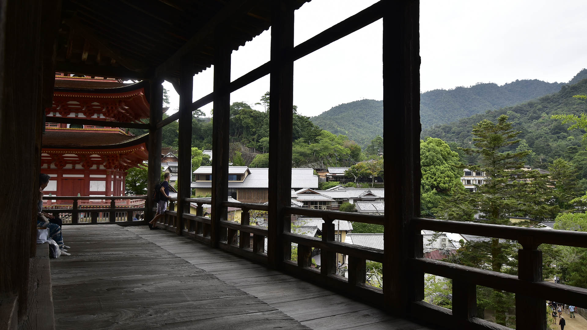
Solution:
[[[202,168],[210,168],[201,170]],[[237,173],[231,170],[231,167],[238,167],[244,169],[242,173],[247,169],[246,166],[230,166],[229,173]],[[201,166],[200,169],[194,171],[195,174],[210,174],[211,166]],[[249,168],[251,174],[245,177],[243,182],[228,182],[229,188],[267,188],[269,187],[269,169],[266,168]],[[292,169],[292,182],[293,188],[308,187],[318,188],[318,176],[313,174],[312,169]],[[212,187],[211,181],[205,182],[193,182],[191,183],[192,188],[210,188]]]

